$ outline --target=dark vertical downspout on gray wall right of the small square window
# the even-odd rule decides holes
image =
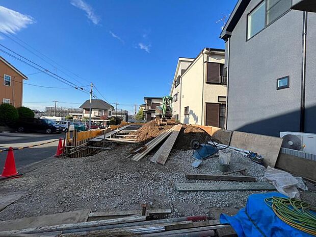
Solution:
[[[300,132],[305,131],[306,35],[307,35],[307,12],[304,11],[303,12],[303,34],[302,34],[302,80],[301,80]]]

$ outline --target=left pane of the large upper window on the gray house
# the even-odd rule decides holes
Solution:
[[[265,28],[266,2],[262,2],[248,15],[247,39],[257,34]]]

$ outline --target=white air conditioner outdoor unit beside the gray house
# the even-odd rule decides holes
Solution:
[[[316,155],[316,134],[304,132],[280,132],[282,147]]]

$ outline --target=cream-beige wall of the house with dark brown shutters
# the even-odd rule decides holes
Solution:
[[[206,103],[218,103],[218,96],[226,96],[227,87],[221,84],[206,83],[206,62],[225,62],[223,54],[201,53],[181,78],[180,122],[183,124],[205,125]],[[179,103],[179,102],[178,102]],[[185,115],[185,107],[189,114]]]

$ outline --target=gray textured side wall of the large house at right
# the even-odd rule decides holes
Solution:
[[[227,128],[279,136],[280,131],[300,129],[303,12],[289,11],[246,41],[247,14],[259,2],[249,3],[230,37]],[[312,42],[316,32],[311,30],[316,18],[312,14],[308,13],[309,54],[316,52]],[[313,62],[315,55],[307,61],[306,105],[309,106],[316,103],[316,72],[315,68],[310,69]],[[289,88],[277,90],[277,79],[284,76],[289,76]],[[310,110],[306,115],[306,132],[316,132],[315,125],[310,123],[315,111]]]

